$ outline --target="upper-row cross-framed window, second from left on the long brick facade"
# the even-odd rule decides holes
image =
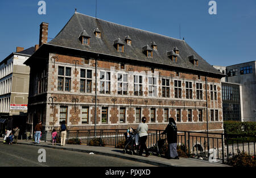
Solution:
[[[92,70],[80,69],[80,92],[92,92]]]

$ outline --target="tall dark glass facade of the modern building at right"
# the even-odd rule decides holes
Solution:
[[[240,85],[222,82],[224,121],[241,121]]]

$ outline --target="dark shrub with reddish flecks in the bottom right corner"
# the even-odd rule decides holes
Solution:
[[[228,164],[233,167],[256,167],[256,158],[238,151],[238,154],[229,159]]]

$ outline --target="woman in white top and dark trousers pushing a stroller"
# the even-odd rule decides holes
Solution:
[[[139,126],[137,128],[137,132],[139,133],[139,143],[141,144],[141,148],[139,148],[139,156],[142,156],[143,150],[145,150],[146,152],[146,157],[149,155],[146,146],[147,130],[148,126],[146,123],[146,117],[142,117],[142,123],[139,123]]]

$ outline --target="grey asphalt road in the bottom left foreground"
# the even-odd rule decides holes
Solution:
[[[46,150],[46,162],[38,162],[38,150],[43,147],[21,144],[0,144],[0,167],[151,167],[150,164],[134,162],[104,155],[90,155],[82,152]]]

